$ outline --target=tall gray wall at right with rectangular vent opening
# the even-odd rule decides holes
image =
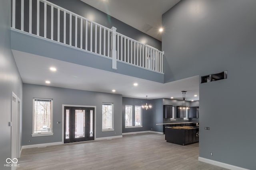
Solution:
[[[254,0],[182,0],[162,17],[165,82],[228,70],[200,84],[199,156],[247,169],[256,169],[255,8]]]

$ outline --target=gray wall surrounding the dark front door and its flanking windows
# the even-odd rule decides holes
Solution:
[[[122,135],[122,95],[33,84],[23,84],[23,94],[22,145],[62,141],[62,104],[96,106],[96,138]],[[53,136],[31,136],[33,98],[53,99]],[[102,132],[102,102],[114,103],[114,131]]]

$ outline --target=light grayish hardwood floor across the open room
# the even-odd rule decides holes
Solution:
[[[164,135],[122,138],[23,149],[18,170],[226,170],[198,161],[198,143],[167,143]]]

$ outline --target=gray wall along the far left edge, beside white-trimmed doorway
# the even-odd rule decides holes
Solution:
[[[11,155],[11,121],[12,92],[22,100],[22,81],[12,51],[10,50],[10,0],[0,1],[0,169],[4,167],[6,158]],[[18,141],[17,141],[18,142]]]

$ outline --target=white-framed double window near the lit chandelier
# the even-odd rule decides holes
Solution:
[[[141,106],[125,106],[125,128],[142,127],[142,108]]]

